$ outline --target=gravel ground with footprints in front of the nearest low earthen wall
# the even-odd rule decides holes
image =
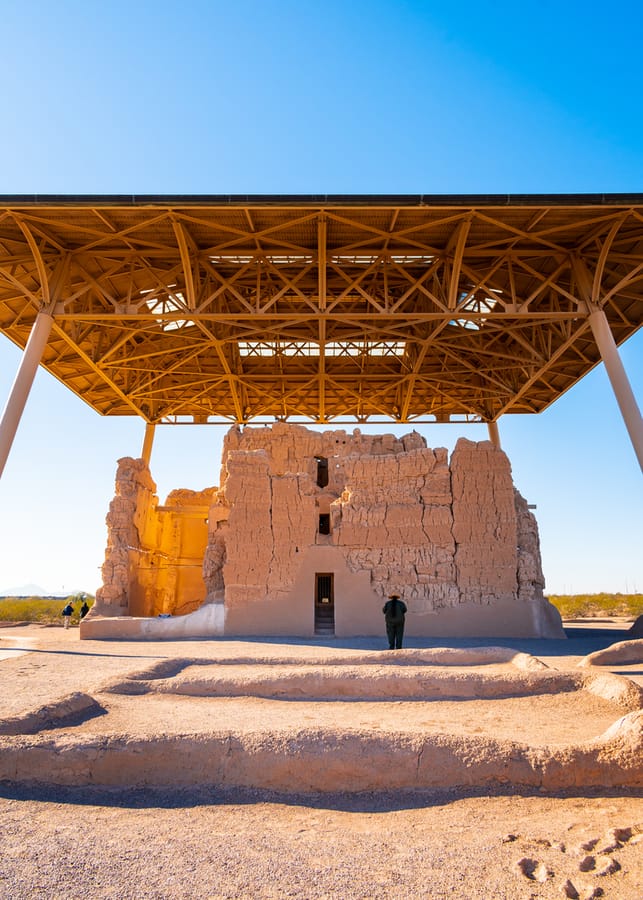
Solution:
[[[12,900],[641,898],[641,797],[5,786],[0,798]]]

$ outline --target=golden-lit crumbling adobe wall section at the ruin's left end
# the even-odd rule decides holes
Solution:
[[[202,564],[212,493],[212,488],[173,491],[161,507],[143,460],[118,461],[94,615],[180,615],[198,609],[206,595]]]

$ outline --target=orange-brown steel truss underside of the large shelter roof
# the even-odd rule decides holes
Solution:
[[[643,195],[0,197],[0,332],[148,422],[536,413],[643,322]]]

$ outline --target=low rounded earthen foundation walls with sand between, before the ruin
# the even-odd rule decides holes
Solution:
[[[0,721],[0,779],[283,792],[643,787],[640,687],[525,654],[471,659],[155,662]]]

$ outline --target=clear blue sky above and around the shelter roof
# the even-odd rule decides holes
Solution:
[[[638,3],[5,0],[0,193],[643,192],[642,26]],[[643,332],[622,357],[641,405]],[[18,361],[0,338],[0,406]],[[499,424],[548,589],[643,591],[643,479],[603,367]],[[39,372],[0,482],[0,591],[95,590],[142,437]],[[162,499],[217,483],[221,437],[157,429]]]

